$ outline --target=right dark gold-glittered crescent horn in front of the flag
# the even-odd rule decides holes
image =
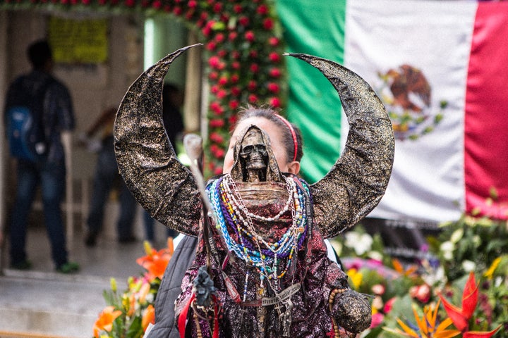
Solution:
[[[325,238],[362,220],[385,194],[394,160],[392,123],[370,85],[333,61],[286,54],[306,61],[327,77],[348,118],[346,147],[332,169],[310,186],[314,217]]]

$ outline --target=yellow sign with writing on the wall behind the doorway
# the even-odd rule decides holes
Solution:
[[[49,18],[49,43],[56,63],[104,63],[107,19]]]

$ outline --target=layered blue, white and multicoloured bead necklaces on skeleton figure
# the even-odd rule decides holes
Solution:
[[[296,178],[284,178],[289,197],[284,208],[272,217],[248,211],[231,175],[224,175],[207,187],[217,216],[215,226],[224,237],[227,249],[247,264],[253,265],[260,273],[261,281],[266,277],[269,281],[277,281],[277,284],[289,270],[296,251],[301,249],[307,230],[306,209],[303,208],[307,194],[294,182]],[[270,242],[255,230],[253,219],[268,223],[277,222],[289,210],[292,216],[291,226],[276,242]],[[286,264],[282,271],[277,271],[282,258],[286,258]]]

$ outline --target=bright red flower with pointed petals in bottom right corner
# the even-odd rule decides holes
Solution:
[[[478,304],[478,284],[476,284],[475,275],[473,272],[469,273],[468,280],[464,286],[464,292],[462,293],[462,308],[449,303],[441,294],[439,296],[442,300],[444,310],[446,310],[448,317],[452,320],[455,327],[463,333],[462,337],[489,338],[492,337],[492,335],[495,334],[497,330],[499,330],[500,326],[490,332],[468,330],[468,322],[473,316],[476,305]]]

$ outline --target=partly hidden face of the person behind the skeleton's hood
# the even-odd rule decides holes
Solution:
[[[275,125],[272,121],[267,120],[266,118],[246,118],[236,125],[236,128],[231,135],[231,139],[229,140],[229,148],[226,152],[226,156],[224,157],[224,165],[222,166],[222,173],[229,173],[231,168],[233,168],[234,158],[234,146],[238,137],[240,137],[240,133],[246,129],[249,125],[256,125],[260,127],[265,133],[270,137],[270,144],[272,145],[272,151],[277,160],[277,165],[279,165],[279,169],[283,173],[294,173],[298,174],[300,170],[300,163],[293,161],[289,162],[286,156],[286,148],[284,147],[284,143],[282,142],[282,130],[280,130],[278,125]]]

